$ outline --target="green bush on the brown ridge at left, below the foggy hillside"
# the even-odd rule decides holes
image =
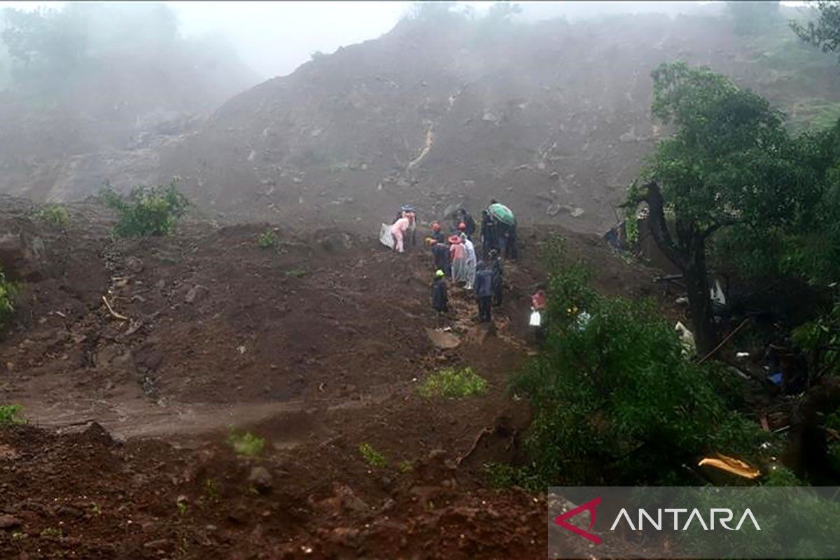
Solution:
[[[118,237],[167,235],[189,206],[175,180],[167,186],[138,186],[124,197],[106,186],[100,197],[119,216],[113,228]]]

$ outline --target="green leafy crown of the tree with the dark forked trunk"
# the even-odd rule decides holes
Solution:
[[[814,175],[766,99],[682,62],[652,76],[654,117],[675,133],[659,142],[644,176],[659,181],[677,221],[698,232],[765,228],[789,222],[810,200]]]

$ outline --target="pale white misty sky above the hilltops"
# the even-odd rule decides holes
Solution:
[[[0,8],[57,8],[63,2],[2,2]],[[312,52],[332,53],[339,46],[375,39],[388,32],[412,2],[165,2],[177,14],[184,36],[221,32],[242,60],[264,78],[284,76]],[[462,2],[477,13],[486,2]],[[517,2],[522,17],[568,18],[591,13],[683,11],[706,3]],[[785,3],[801,4],[801,3]]]

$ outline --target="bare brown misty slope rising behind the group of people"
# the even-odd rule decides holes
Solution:
[[[370,228],[406,201],[428,217],[496,196],[528,222],[602,231],[664,133],[649,116],[661,62],[711,65],[794,127],[837,116],[831,56],[798,44],[784,20],[755,36],[732,29],[701,16],[405,20],[234,97],[161,154],[162,175],[242,217]]]

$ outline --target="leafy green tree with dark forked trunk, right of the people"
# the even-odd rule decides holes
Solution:
[[[683,273],[697,350],[717,332],[706,265],[710,238],[722,228],[784,227],[813,198],[813,171],[784,116],[769,102],[708,68],[659,65],[652,113],[673,134],[657,145],[625,207],[646,202],[650,233]]]

